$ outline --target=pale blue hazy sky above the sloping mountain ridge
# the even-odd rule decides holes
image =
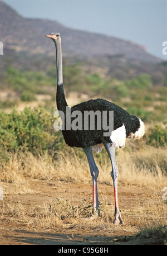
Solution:
[[[2,1],[24,17],[47,18],[73,29],[134,41],[155,56],[167,56],[162,54],[167,41],[166,0]]]

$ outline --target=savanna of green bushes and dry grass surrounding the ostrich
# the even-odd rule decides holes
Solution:
[[[80,186],[91,184],[82,150],[69,148],[61,132],[53,129],[55,60],[45,59],[41,64],[39,56],[27,65],[22,58],[19,56],[17,64],[6,59],[1,71],[0,91],[8,90],[16,96],[0,100],[0,184],[5,196],[0,207],[1,226],[11,222],[14,228],[19,223],[26,230],[67,230],[71,227],[74,233],[84,230],[91,234],[94,227],[94,233],[102,229],[107,237],[119,236],[120,243],[166,243],[166,202],[161,193],[167,186],[165,64],[123,65],[117,60],[112,70],[109,66],[104,70],[99,69],[99,63],[90,64],[90,60],[64,60],[63,82],[67,97],[71,92],[77,92],[80,101],[82,94],[87,99],[103,97],[145,122],[143,140],[129,140],[125,149],[116,153],[120,186],[145,191],[143,198],[137,194],[135,202],[126,203],[126,196],[122,197],[125,202],[120,200],[125,221],[121,229],[112,227],[114,204],[107,193],[102,193],[104,187],[112,186],[111,164],[105,150],[95,155],[100,168],[100,219],[90,222],[83,219],[91,215],[92,203],[91,196],[84,198],[84,192],[80,202],[65,192],[58,192],[46,203],[32,203],[31,214],[30,207],[18,199],[19,195],[38,195],[40,188],[36,188],[35,183],[53,187],[61,186],[58,184],[62,182]],[[27,60],[30,64],[28,57]],[[37,100],[38,94],[50,95],[50,100],[43,99],[32,108],[31,103]],[[19,111],[21,102],[29,102],[29,105]],[[12,201],[11,195],[15,195]]]

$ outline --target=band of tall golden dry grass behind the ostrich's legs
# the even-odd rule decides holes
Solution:
[[[96,158],[100,170],[98,182],[112,185],[111,163],[105,149],[102,158],[102,163],[101,159]],[[152,189],[162,189],[166,186],[167,159],[164,148],[146,146],[136,151],[120,149],[117,151],[116,162],[119,168],[119,182],[125,186]],[[60,152],[54,162],[48,155],[36,158],[31,153],[13,154],[9,162],[1,167],[1,180],[14,183],[18,193],[29,192],[26,191],[31,189],[28,188],[28,181],[38,178],[83,184],[91,182],[87,159],[85,155],[78,158],[75,149],[71,149],[70,153]]]

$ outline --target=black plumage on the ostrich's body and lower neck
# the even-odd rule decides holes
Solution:
[[[123,124],[125,125],[126,129],[126,137],[129,136],[131,132],[135,132],[140,127],[140,121],[139,118],[135,116],[130,116],[130,114],[123,110],[121,107],[115,105],[114,103],[111,103],[109,101],[106,101],[105,99],[91,99],[90,101],[82,102],[78,105],[75,105],[71,108],[71,115],[73,111],[80,111],[82,113],[82,129],[81,130],[67,130],[66,129],[66,123],[68,122],[69,118],[66,115],[66,107],[67,103],[65,100],[65,95],[63,93],[63,86],[57,87],[57,108],[58,110],[61,110],[65,113],[65,125],[64,130],[62,130],[63,137],[66,141],[66,143],[69,146],[76,146],[77,148],[87,148],[89,146],[93,146],[96,144],[101,143],[101,136],[103,136],[104,132],[106,130],[103,129],[101,124],[101,130],[97,129],[97,120],[95,115],[95,126],[94,129],[91,130],[90,124],[89,129],[84,129],[84,114],[85,111],[106,111],[107,117],[109,117],[110,112],[114,111],[114,130],[121,127]],[[71,124],[72,121],[75,120],[77,116],[71,117]],[[102,122],[102,120],[101,120]],[[68,124],[69,125],[69,124]],[[109,126],[109,118],[107,118],[107,126]],[[68,126],[69,127],[69,126]],[[80,126],[81,127],[81,126]],[[110,134],[111,136],[111,134]],[[105,140],[107,142],[111,142],[110,136],[105,136]]]

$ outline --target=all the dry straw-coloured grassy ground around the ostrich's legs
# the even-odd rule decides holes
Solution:
[[[111,163],[105,153],[102,153],[102,157],[96,157],[100,169],[98,182],[101,216],[90,219],[91,193],[84,192],[86,186],[91,187],[89,165],[85,155],[78,158],[77,151],[71,150],[71,153],[60,153],[55,162],[47,155],[36,158],[32,154],[13,154],[9,162],[1,166],[0,186],[4,192],[0,207],[1,227],[9,223],[12,229],[56,229],[66,234],[83,232],[118,237],[166,225],[166,203],[161,192],[167,184],[165,151],[146,146],[140,148],[140,145],[137,145],[137,150],[129,150],[130,146],[131,142],[116,155],[124,226],[115,227],[112,224],[114,201]],[[63,189],[58,189],[61,184]],[[70,184],[71,190],[68,189]],[[81,197],[75,196],[75,186],[78,184],[82,185]],[[56,192],[51,191],[52,185]],[[45,193],[44,187],[50,188],[50,191]],[[29,198],[31,196],[32,199]]]

